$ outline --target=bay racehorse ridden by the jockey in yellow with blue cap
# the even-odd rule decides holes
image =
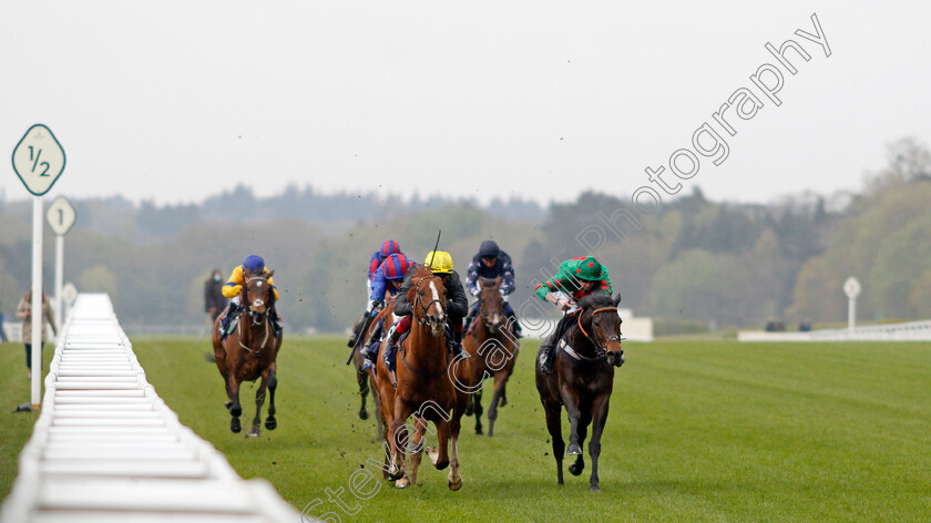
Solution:
[[[214,356],[216,367],[219,369],[223,381],[226,384],[226,394],[229,401],[226,408],[233,420],[229,422],[229,430],[234,433],[243,430],[239,424],[239,416],[243,407],[239,404],[239,383],[243,381],[255,381],[262,378],[262,384],[255,393],[255,419],[248,435],[257,437],[260,433],[262,404],[265,402],[265,389],[272,393],[268,403],[268,418],[265,420],[265,428],[275,430],[278,422],[275,419],[275,389],[278,387],[277,366],[275,359],[278,349],[282,347],[284,334],[275,336],[268,311],[275,306],[275,293],[268,285],[268,279],[275,271],[266,276],[244,275],[246,278],[243,285],[239,299],[243,310],[234,319],[238,321],[236,329],[225,340],[221,340],[219,318],[214,324]]]

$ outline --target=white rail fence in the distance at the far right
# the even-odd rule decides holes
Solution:
[[[737,334],[737,339],[739,341],[931,341],[931,320],[810,332],[741,330]]]

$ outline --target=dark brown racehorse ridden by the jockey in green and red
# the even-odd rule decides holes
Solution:
[[[612,299],[607,295],[589,295],[579,302],[581,311],[566,329],[555,353],[552,372],[540,370],[536,362],[536,390],[546,411],[546,429],[553,440],[553,458],[556,459],[556,481],[563,484],[562,460],[577,455],[569,466],[573,475],[585,468],[582,445],[585,432],[592,424],[592,441],[589,455],[592,458],[590,490],[598,491],[598,454],[601,437],[607,421],[607,407],[614,387],[614,367],[624,363],[621,349],[621,317],[617,304],[621,296]],[[566,347],[567,345],[567,347]],[[539,355],[538,355],[539,356]],[[562,437],[562,407],[569,413],[569,449]]]

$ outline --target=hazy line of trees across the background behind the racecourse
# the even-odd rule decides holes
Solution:
[[[931,316],[927,202],[931,155],[911,139],[889,146],[889,165],[859,194],[760,205],[712,202],[696,188],[655,214],[594,192],[545,208],[521,199],[482,206],[311,187],[268,198],[237,187],[181,206],[79,199],[65,239],[65,280],[109,293],[126,326],[198,326],[211,270],[228,276],[255,253],[276,270],[289,328],[341,331],[365,306],[365,268],[381,242],[396,239],[422,260],[442,229],[441,248],[463,275],[484,239],[511,254],[518,279],[511,301],[519,312],[526,305],[528,315],[554,314],[535,305],[533,290],[559,262],[594,254],[610,268],[622,305],[640,316],[718,327],[761,326],[770,317],[838,322],[847,314],[841,285],[856,276],[863,284],[860,318],[919,319]],[[0,307],[11,315],[30,281],[29,203],[0,202]],[[53,242],[45,249],[51,285]]]

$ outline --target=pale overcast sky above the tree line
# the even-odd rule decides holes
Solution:
[[[796,34],[812,13],[830,57]],[[886,144],[931,141],[929,20],[921,2],[3,1],[0,191],[28,196],[9,158],[34,123],[68,157],[50,196],[666,198],[661,166],[714,199],[858,189]],[[810,55],[786,52],[795,75],[764,48],[787,39]],[[750,80],[767,63],[778,106]],[[732,136],[714,113],[741,88],[763,106],[732,106]],[[696,154],[704,123],[719,165]]]

